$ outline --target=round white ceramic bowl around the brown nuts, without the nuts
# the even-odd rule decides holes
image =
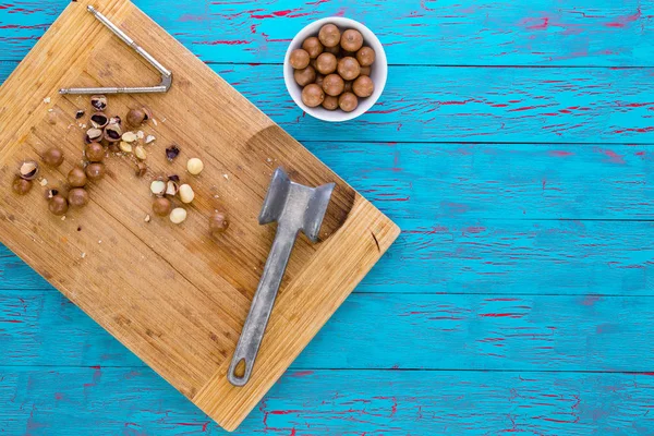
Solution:
[[[341,32],[348,28],[355,28],[363,35],[363,45],[370,46],[373,48],[373,50],[375,50],[375,63],[373,63],[371,66],[371,78],[375,84],[375,92],[372,96],[367,98],[360,98],[359,106],[352,112],[343,112],[340,109],[327,110],[322,106],[318,106],[317,108],[310,108],[308,106],[302,102],[302,87],[298,85],[295,83],[295,80],[293,78],[293,68],[289,62],[291,51],[293,51],[296,48],[301,48],[302,43],[307,37],[318,36],[318,31],[320,29],[320,27],[328,23],[336,24],[341,29]],[[286,58],[283,59],[283,81],[286,82],[287,89],[293,98],[293,101],[295,101],[295,104],[300,106],[300,108],[306,113],[323,121],[348,121],[361,116],[362,113],[365,113],[377,101],[377,99],[382,95],[382,92],[384,92],[387,75],[388,63],[386,62],[386,53],[384,52],[384,47],[382,46],[382,43],[379,43],[379,39],[377,39],[375,34],[373,34],[371,29],[364,26],[363,24],[354,20],[343,19],[340,16],[331,16],[308,24],[306,27],[300,31],[298,35],[295,35],[295,37],[289,45]]]

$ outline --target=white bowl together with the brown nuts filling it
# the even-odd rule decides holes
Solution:
[[[372,108],[387,74],[379,39],[363,24],[340,16],[300,31],[283,62],[283,78],[295,104],[330,122],[352,120]]]

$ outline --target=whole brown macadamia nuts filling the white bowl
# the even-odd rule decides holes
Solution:
[[[302,86],[306,106],[351,112],[359,98],[373,95],[370,75],[375,50],[363,44],[361,32],[349,28],[341,34],[335,24],[326,24],[317,37],[306,38],[302,48],[291,51],[293,77]]]

